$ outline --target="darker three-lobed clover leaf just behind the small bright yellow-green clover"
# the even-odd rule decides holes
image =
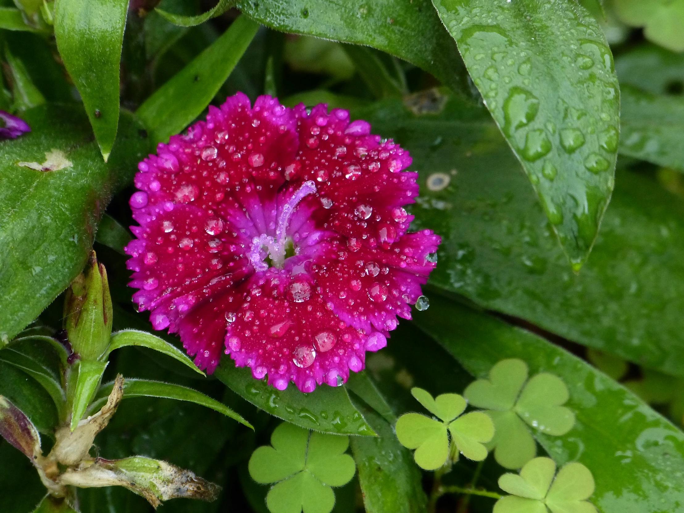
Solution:
[[[501,360],[489,371],[489,379],[472,382],[463,393],[494,421],[495,435],[487,448],[495,449],[495,460],[506,469],[519,469],[536,455],[536,443],[525,423],[555,436],[566,434],[575,423],[575,414],[562,406],[570,395],[558,376],[545,372],[530,380],[527,376],[523,360]]]

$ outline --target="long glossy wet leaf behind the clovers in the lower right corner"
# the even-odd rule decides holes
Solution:
[[[577,413],[564,436],[535,432],[559,465],[579,461],[596,479],[592,502],[603,513],[676,510],[684,501],[684,433],[591,365],[531,332],[434,296],[415,321],[475,376],[500,358],[521,358],[568,385]],[[667,456],[666,456],[667,455]],[[665,464],[665,462],[667,462]]]

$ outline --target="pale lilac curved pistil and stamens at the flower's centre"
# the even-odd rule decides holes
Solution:
[[[276,236],[272,237],[272,235],[262,233],[259,237],[252,239],[252,248],[250,248],[248,257],[254,269],[257,269],[257,271],[265,271],[269,267],[282,269],[285,259],[295,254],[292,238],[287,236],[287,225],[299,202],[315,192],[316,184],[313,181],[304,182],[290,200],[282,206],[280,215],[278,215]],[[266,252],[265,258],[269,261],[270,265],[264,261],[262,250]]]

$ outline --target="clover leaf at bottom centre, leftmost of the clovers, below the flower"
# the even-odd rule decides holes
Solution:
[[[272,513],[330,513],[331,486],[350,482],[354,459],[344,452],[349,437],[311,432],[284,422],[271,435],[271,446],[257,447],[249,462],[252,479],[275,485],[266,496]]]

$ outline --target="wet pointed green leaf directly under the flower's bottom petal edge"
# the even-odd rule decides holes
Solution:
[[[302,428],[337,434],[376,434],[343,386],[322,385],[311,393],[303,393],[291,384],[279,391],[252,378],[247,367],[235,367],[230,358],[222,359],[214,376],[257,408]]]

